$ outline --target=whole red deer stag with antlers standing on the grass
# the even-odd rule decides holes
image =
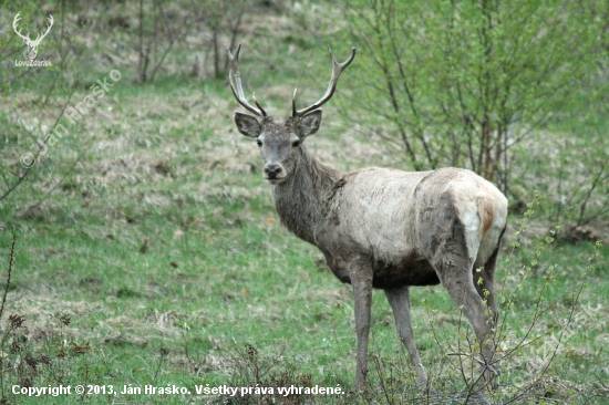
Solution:
[[[285,122],[267,115],[255,97],[256,106],[247,102],[238,65],[240,49],[241,44],[234,55],[227,50],[230,89],[255,116],[235,112],[234,120],[238,131],[256,139],[260,148],[264,178],[272,185],[277,214],[291,232],[318,247],[334,276],[353,288],[355,386],[367,384],[373,288],[382,289],[389,300],[419,384],[426,384],[427,376],[414,344],[411,285],[442,283],[472,323],[488,363],[498,315],[493,278],[506,225],[504,195],[460,168],[407,173],[369,167],[340,173],[322,165],[309,154],[304,139],[318,132],[320,107],[332,97],[355,49],[345,62],[338,63],[328,48],[332,59],[328,91],[302,110],[296,110],[295,91],[292,114]],[[486,370],[488,377],[492,368]]]

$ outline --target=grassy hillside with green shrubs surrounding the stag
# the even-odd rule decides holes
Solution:
[[[595,245],[609,239],[607,1],[0,8],[0,403],[477,401],[474,361],[457,355],[475,353],[467,322],[442,288],[412,292],[433,390],[416,391],[375,293],[371,390],[350,392],[351,292],[278,224],[257,148],[234,129],[225,49],[238,42],[246,91],[277,120],[295,87],[302,105],[324,91],[326,44],[340,60],[355,45],[312,154],[341,170],[455,165],[494,180],[510,202],[495,395],[609,402],[608,253]],[[53,15],[38,55],[52,68],[16,66],[18,12],[32,38]],[[256,383],[345,394],[194,392]],[[27,398],[16,384],[193,394]]]

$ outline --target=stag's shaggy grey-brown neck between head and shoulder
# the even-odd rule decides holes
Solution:
[[[302,145],[292,177],[272,186],[281,224],[297,237],[317,246],[317,229],[324,221],[328,200],[341,177],[340,172],[319,163]]]

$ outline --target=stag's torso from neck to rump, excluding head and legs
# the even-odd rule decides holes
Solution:
[[[370,261],[374,288],[437,284],[440,279],[431,264],[437,249],[434,243],[438,243],[434,228],[445,229],[451,222],[463,226],[469,259],[482,267],[505,227],[505,214],[491,218],[479,212],[487,206],[491,212],[505,211],[503,196],[468,170],[365,168],[340,174],[311,156],[302,156],[302,160],[310,160],[312,168],[299,164],[292,180],[272,187],[277,212],[290,231],[324,253],[330,269],[343,282],[350,282],[343,263],[359,252]],[[472,189],[476,190],[474,200],[454,202]],[[452,236],[452,229],[445,230]]]

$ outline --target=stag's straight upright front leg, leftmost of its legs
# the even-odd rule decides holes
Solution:
[[[363,268],[351,272],[351,285],[355,303],[355,332],[358,334],[358,364],[355,390],[364,390],[368,384],[368,336],[370,333],[370,311],[372,308],[372,272]]]

